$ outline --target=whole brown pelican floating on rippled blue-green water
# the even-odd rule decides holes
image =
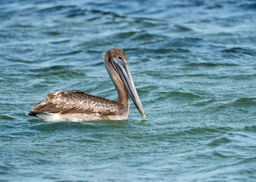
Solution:
[[[131,78],[125,52],[110,49],[103,52],[106,70],[118,93],[117,102],[98,96],[91,96],[79,90],[47,93],[46,99],[33,106],[27,115],[43,118],[47,121],[93,121],[125,120],[128,118],[129,100],[146,117],[137,90]]]

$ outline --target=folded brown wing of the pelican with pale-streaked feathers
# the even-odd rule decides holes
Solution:
[[[119,107],[122,107],[118,102],[91,96],[79,90],[55,91],[57,92],[47,93],[46,99],[34,105],[27,115],[36,116],[40,113],[116,115]]]

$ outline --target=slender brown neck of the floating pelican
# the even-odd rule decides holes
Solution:
[[[117,102],[119,102],[122,105],[128,106],[129,105],[129,97],[128,97],[128,93],[125,89],[124,83],[122,83],[122,80],[120,79],[119,75],[115,72],[113,67],[110,65],[109,61],[106,61],[106,58],[105,58],[104,62],[106,65],[106,70],[109,73],[109,77],[111,77],[112,82],[115,85],[115,89],[117,90],[117,93],[118,93]]]

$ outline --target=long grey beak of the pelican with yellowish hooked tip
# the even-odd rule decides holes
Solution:
[[[134,81],[132,80],[128,64],[123,59],[114,58],[112,61],[112,67],[114,67],[115,71],[121,77],[122,82],[125,84],[125,89],[131,96],[131,99],[134,102],[134,105],[136,106],[137,110],[139,110],[141,112],[142,117],[145,118],[146,115],[141,105],[141,100],[137,95],[137,90],[134,86]]]

